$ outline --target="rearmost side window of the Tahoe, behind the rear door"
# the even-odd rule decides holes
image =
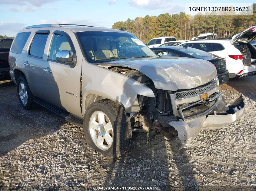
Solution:
[[[11,53],[21,54],[31,32],[18,33],[12,44]]]

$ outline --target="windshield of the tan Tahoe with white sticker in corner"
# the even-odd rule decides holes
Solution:
[[[86,31],[78,32],[77,36],[90,63],[157,57],[148,46],[129,33]]]

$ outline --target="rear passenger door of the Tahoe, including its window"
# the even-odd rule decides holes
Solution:
[[[35,32],[33,40],[28,46],[23,57],[23,67],[29,88],[34,96],[42,98],[44,89],[42,88],[43,60],[45,54],[45,44],[49,31],[39,30]]]

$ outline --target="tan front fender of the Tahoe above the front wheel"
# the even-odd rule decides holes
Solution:
[[[137,95],[155,97],[147,86],[125,75],[113,72],[98,65],[92,65],[83,59],[82,64],[82,114],[85,113],[86,97],[95,94],[121,103],[126,111],[131,112],[137,103]],[[134,107],[139,110],[138,104]]]

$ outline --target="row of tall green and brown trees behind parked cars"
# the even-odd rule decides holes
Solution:
[[[256,4],[254,15],[208,15],[197,14],[194,17],[180,14],[160,14],[158,16],[137,17],[134,20],[118,21],[113,29],[133,33],[144,43],[155,37],[175,36],[177,40],[191,40],[201,33],[217,33],[218,36],[233,36],[256,25]]]

